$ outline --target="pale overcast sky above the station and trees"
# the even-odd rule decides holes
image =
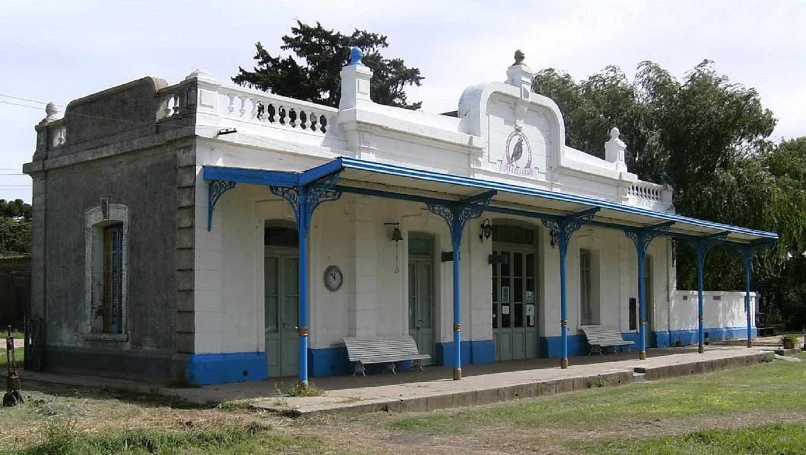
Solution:
[[[0,94],[66,105],[143,76],[173,84],[195,68],[228,81],[239,65],[251,68],[257,41],[278,52],[298,18],[387,35],[384,55],[426,77],[408,90],[426,111],[455,110],[467,85],[505,79],[517,48],[534,70],[559,68],[576,79],[608,64],[632,77],[642,60],[681,77],[710,59],[758,90],[778,118],[775,139],[806,135],[802,0],[249,3],[4,0]],[[44,104],[0,101],[0,198],[31,201],[31,179],[14,174],[31,159]]]

